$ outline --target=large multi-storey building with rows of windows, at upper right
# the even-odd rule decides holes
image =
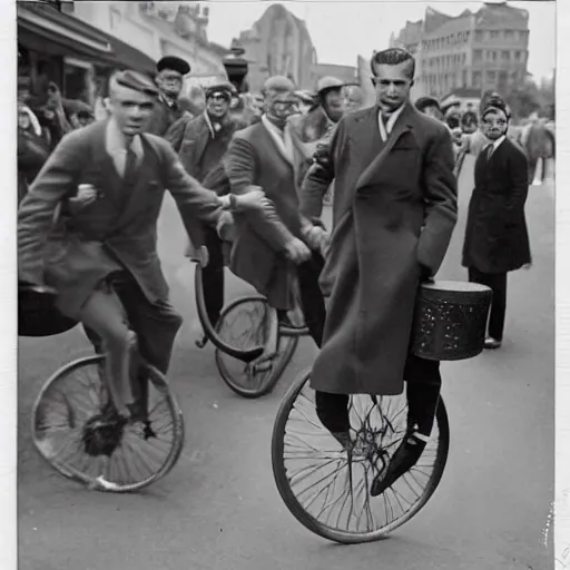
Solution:
[[[529,13],[503,3],[451,17],[428,8],[420,22],[407,22],[393,46],[416,56],[414,96],[448,96],[458,88],[509,89],[527,77]]]

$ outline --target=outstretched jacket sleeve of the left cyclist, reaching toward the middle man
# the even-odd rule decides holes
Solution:
[[[189,236],[196,229],[197,222],[214,226],[219,232],[232,223],[229,213],[224,213],[216,193],[204,188],[186,173],[173,148],[161,141],[165,161],[165,185],[173,195],[176,206]]]

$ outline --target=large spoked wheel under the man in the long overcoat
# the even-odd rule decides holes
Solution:
[[[370,487],[406,431],[405,393],[350,396],[353,451],[348,453],[321,424],[305,372],[277,412],[272,462],[279,494],[308,530],[342,543],[377,540],[404,524],[435,491],[448,459],[449,422],[440,399],[430,442],[419,462],[383,494]]]

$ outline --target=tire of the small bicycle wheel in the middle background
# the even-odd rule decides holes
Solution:
[[[236,307],[239,305],[244,305],[246,303],[263,303],[264,305],[268,306],[267,299],[263,295],[248,295],[245,297],[240,297],[237,299],[234,299],[232,303],[229,303],[224,309],[222,311],[222,314],[219,316],[218,324],[216,326],[218,334],[220,333],[222,327],[224,326],[224,320],[230,314]],[[242,397],[246,399],[257,399],[262,397],[264,395],[267,395],[269,392],[273,391],[275,387],[275,384],[279,381],[281,376],[283,375],[285,368],[287,367],[288,363],[291,362],[291,358],[293,357],[293,354],[295,353],[295,350],[298,344],[298,338],[293,336],[284,336],[279,334],[278,340],[278,351],[281,352],[282,343],[285,343],[285,347],[283,352],[281,352],[279,360],[276,364],[276,366],[272,367],[269,374],[258,384],[257,387],[247,387],[244,386],[243,383],[240,383],[238,380],[234,377],[232,372],[226,366],[226,363],[224,362],[224,353],[216,348],[215,352],[215,358],[216,358],[216,366],[218,368],[219,375],[226,383],[226,385],[236,394],[240,395]]]

